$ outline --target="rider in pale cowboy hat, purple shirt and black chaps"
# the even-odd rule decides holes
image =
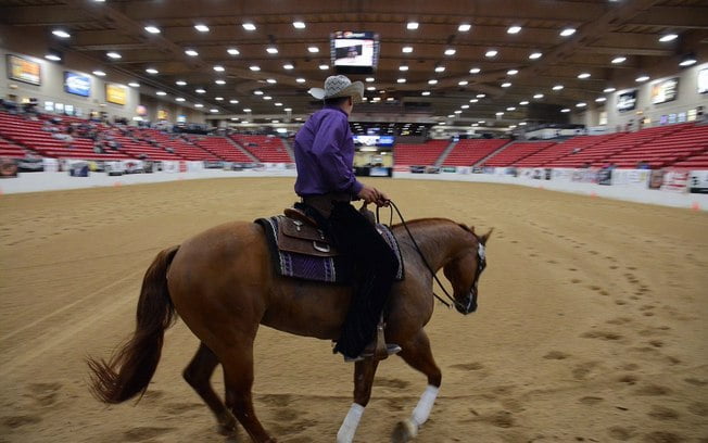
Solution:
[[[375,226],[351,201],[362,199],[384,206],[389,199],[359,182],[353,172],[354,141],[349,115],[354,103],[362,100],[364,85],[337,75],[327,77],[324,89],[312,88],[308,92],[324,100],[325,107],[311,115],[295,136],[295,192],[315,210],[312,215],[337,248],[355,262],[358,281],[334,352],[344,354],[347,362],[356,362],[374,354],[377,325],[397,261]],[[389,354],[399,351],[400,346],[387,344]]]

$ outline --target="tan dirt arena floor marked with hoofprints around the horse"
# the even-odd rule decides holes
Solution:
[[[443,370],[419,442],[708,442],[708,214],[514,186],[369,180],[407,218],[495,231],[478,313],[438,305]],[[106,407],[87,355],[134,326],[155,253],[278,213],[292,179],[175,181],[0,197],[0,442],[223,442],[182,381],[197,339],[166,334],[147,395]],[[254,396],[280,442],[331,442],[353,366],[262,328]],[[220,372],[214,382],[222,391]],[[356,434],[385,442],[425,378],[384,362]],[[243,431],[241,431],[241,441]]]

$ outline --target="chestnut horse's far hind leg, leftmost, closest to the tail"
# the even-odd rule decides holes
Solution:
[[[216,395],[210,381],[217,365],[216,355],[204,343],[200,343],[197,354],[182,371],[182,377],[216,416],[218,432],[224,435],[232,435],[236,432],[236,419],[226,408],[222,398]]]

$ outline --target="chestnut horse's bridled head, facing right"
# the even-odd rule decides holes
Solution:
[[[443,271],[453,286],[455,309],[467,315],[477,311],[477,286],[479,277],[486,267],[485,244],[493,229],[483,236],[478,236],[475,233],[475,228],[459,226],[466,231],[465,236],[468,238],[460,240],[464,248],[443,267]]]

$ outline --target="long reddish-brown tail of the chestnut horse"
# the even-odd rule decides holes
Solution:
[[[109,362],[89,358],[91,392],[105,403],[121,403],[140,396],[155,374],[165,329],[175,317],[169,299],[167,269],[179,246],[157,254],[146,271],[138,301],[136,330]]]

